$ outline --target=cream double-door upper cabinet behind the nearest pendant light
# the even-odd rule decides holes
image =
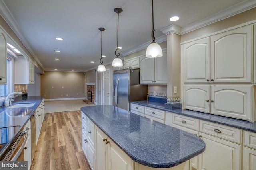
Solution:
[[[167,51],[158,58],[140,57],[140,84],[167,84]]]

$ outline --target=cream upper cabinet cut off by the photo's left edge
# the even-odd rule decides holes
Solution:
[[[0,29],[0,84],[7,83],[7,46],[6,37]]]

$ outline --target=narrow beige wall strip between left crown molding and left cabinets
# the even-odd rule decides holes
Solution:
[[[40,70],[41,73],[44,72],[44,69],[36,62],[36,60],[34,59],[34,57],[30,54],[30,52],[26,49],[26,47],[23,45],[23,43],[20,41],[20,39],[17,37],[17,35],[14,33],[14,31],[12,31],[12,29],[9,27],[9,25],[6,23],[6,21],[4,21],[4,19],[2,18],[2,16],[0,16],[0,25],[1,27],[4,28],[4,30],[6,31],[6,33],[8,33],[10,35],[10,37],[12,37],[12,39],[20,46],[20,48],[28,55],[28,57],[30,57],[30,59],[32,61],[34,61],[35,66]],[[9,42],[10,43],[10,42]]]

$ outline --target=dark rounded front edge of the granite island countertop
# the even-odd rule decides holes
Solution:
[[[88,106],[87,106],[88,107]],[[89,106],[90,107],[90,106]],[[86,114],[85,111],[82,110],[81,108],[81,111],[83,113]],[[132,113],[130,112],[130,114],[135,114],[135,113]],[[100,128],[100,130],[102,130],[121,150],[123,150],[132,160],[134,160],[135,162],[139,163],[139,164],[142,164],[142,165],[145,165],[145,166],[149,166],[149,167],[152,167],[152,168],[170,168],[170,167],[174,167],[174,166],[177,166],[179,164],[182,164],[184,162],[186,162],[187,160],[190,160],[191,158],[194,158],[195,156],[201,154],[202,152],[204,152],[205,150],[205,147],[204,149],[201,149],[199,150],[198,152],[194,153],[194,154],[190,154],[186,157],[183,157],[182,159],[176,161],[176,162],[171,162],[171,163],[162,163],[162,164],[154,164],[152,162],[148,162],[146,160],[141,160],[141,159],[138,159],[136,157],[134,157],[128,150],[126,150],[124,147],[122,147],[122,145],[120,143],[118,143],[109,133],[107,133],[100,125],[98,125],[98,123],[96,121],[94,121],[92,119],[92,117],[90,117],[90,115],[86,114],[86,116],[97,126]],[[146,118],[147,119],[147,118]],[[158,123],[158,122],[157,122]]]

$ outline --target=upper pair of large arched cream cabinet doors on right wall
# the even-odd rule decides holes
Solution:
[[[186,43],[184,83],[251,83],[252,25]]]

